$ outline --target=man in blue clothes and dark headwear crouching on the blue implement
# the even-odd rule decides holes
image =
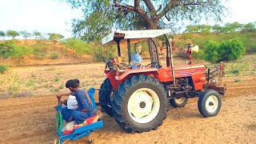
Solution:
[[[74,121],[76,124],[84,122],[87,118],[94,116],[94,110],[90,98],[85,94],[85,91],[78,89],[78,82],[71,79],[66,82],[66,88],[74,92],[74,96],[78,102],[78,108],[76,110],[70,110],[67,107],[62,108],[62,117],[66,122]],[[58,100],[62,98],[62,95],[56,96]]]

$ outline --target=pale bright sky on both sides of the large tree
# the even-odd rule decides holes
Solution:
[[[230,16],[226,22],[256,22],[253,0],[230,0]],[[58,33],[71,37],[71,19],[82,16],[78,10],[72,10],[58,0],[0,0],[0,30],[38,30],[45,33]],[[214,25],[213,22],[209,23]]]

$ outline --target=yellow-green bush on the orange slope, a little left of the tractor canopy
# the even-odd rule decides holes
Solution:
[[[91,46],[89,43],[83,42],[80,39],[68,38],[66,39],[66,42],[63,42],[63,44],[70,47],[70,49],[74,50],[74,53],[78,55],[92,54],[93,52],[93,46]]]

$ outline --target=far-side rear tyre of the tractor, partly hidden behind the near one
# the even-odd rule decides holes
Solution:
[[[110,83],[109,78],[106,78],[104,80],[104,82],[102,83],[101,89],[102,90],[99,90],[99,92],[98,92],[98,101],[99,102],[109,102],[109,103],[111,103],[110,95],[111,95],[112,92],[107,91],[107,90],[112,90],[113,87]],[[109,114],[111,117],[113,116],[112,105],[111,104],[108,105],[108,106],[102,106],[102,110],[104,110],[106,112],[106,114]]]

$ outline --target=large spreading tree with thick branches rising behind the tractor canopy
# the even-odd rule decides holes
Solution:
[[[206,19],[220,20],[220,15],[226,7],[222,5],[221,0],[65,0],[74,8],[81,8],[86,18],[93,18],[92,23],[80,21],[75,23],[74,34],[81,30],[83,34],[102,34],[99,27],[110,25],[108,27],[116,27],[118,29],[126,29],[130,27],[141,27],[147,30],[156,30],[158,28],[170,28],[175,22],[190,20],[190,22],[199,22],[202,17]],[[99,13],[102,17],[91,17],[91,14]],[[105,17],[104,17],[105,16]],[[108,19],[110,17],[110,19]],[[106,19],[108,21],[106,22]],[[166,22],[165,19],[169,22]],[[102,21],[101,21],[102,20]],[[76,29],[78,27],[92,26],[94,21],[98,21],[96,29],[83,31],[84,29]],[[74,21],[77,22],[77,21]],[[124,23],[122,23],[124,22]],[[91,25],[92,24],[92,25]],[[135,25],[136,24],[136,25]],[[96,33],[94,30],[97,30]],[[99,31],[98,31],[99,30]],[[105,29],[103,29],[105,30]],[[79,36],[79,35],[78,35]],[[152,47],[153,42],[148,41],[150,46],[150,56],[154,53]],[[155,57],[151,57],[151,61],[155,62]]]

